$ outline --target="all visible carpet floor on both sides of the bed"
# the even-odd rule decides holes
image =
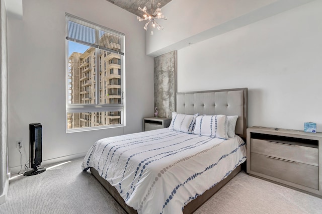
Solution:
[[[82,160],[12,179],[0,213],[125,213]],[[240,172],[195,213],[322,213],[322,199]]]

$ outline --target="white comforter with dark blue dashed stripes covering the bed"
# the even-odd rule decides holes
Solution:
[[[159,129],[97,141],[82,169],[94,167],[138,213],[182,213],[245,160],[246,143],[238,136]]]

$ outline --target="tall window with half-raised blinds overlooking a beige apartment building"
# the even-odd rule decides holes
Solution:
[[[123,126],[124,34],[70,14],[65,25],[66,132]],[[117,64],[106,63],[111,60]],[[104,71],[115,68],[119,75],[104,72],[103,76],[103,63]],[[106,85],[112,79],[119,84]]]

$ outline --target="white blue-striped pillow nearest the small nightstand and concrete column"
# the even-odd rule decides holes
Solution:
[[[198,116],[199,113],[195,115],[184,115],[173,112],[169,130],[192,134],[195,127],[196,118]]]

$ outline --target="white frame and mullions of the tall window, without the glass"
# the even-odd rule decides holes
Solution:
[[[66,28],[66,38],[65,38],[65,53],[66,53],[66,56],[65,56],[65,60],[66,60],[66,68],[65,68],[65,79],[66,79],[66,86],[65,86],[65,93],[66,93],[66,115],[65,115],[65,122],[66,122],[66,133],[73,133],[73,132],[83,132],[83,131],[90,131],[90,130],[100,130],[100,129],[109,129],[109,128],[116,128],[116,127],[124,127],[125,126],[125,53],[124,53],[124,50],[125,50],[125,35],[123,33],[120,33],[120,32],[117,32],[117,31],[114,31],[112,29],[109,29],[109,28],[106,28],[106,27],[103,27],[103,26],[100,26],[98,24],[95,24],[95,23],[92,23],[92,22],[89,22],[87,20],[84,20],[82,18],[79,18],[79,17],[75,17],[73,15],[70,15],[68,13],[65,14],[65,20],[66,20],[66,23],[65,23],[65,28]],[[100,47],[99,45],[91,45],[89,46],[89,44],[87,44],[86,42],[82,42],[82,41],[79,41],[77,39],[72,39],[72,38],[69,38],[67,35],[67,22],[68,21],[72,21],[74,23],[77,23],[77,24],[80,24],[80,25],[84,25],[85,24],[89,24],[91,27],[95,26],[95,31],[104,31],[104,32],[108,32],[109,34],[113,34],[113,35],[116,35],[117,37],[120,38],[120,51],[115,51],[115,50],[111,50],[111,49],[107,49],[105,47]],[[85,25],[87,26],[87,25]],[[87,26],[88,27],[88,26]],[[97,34],[96,34],[97,35]],[[99,38],[98,36],[96,36],[97,38]],[[96,38],[96,39],[97,39]],[[102,94],[100,93],[100,86],[101,84],[100,83],[100,78],[101,78],[101,75],[100,75],[100,69],[101,69],[101,66],[95,66],[95,81],[98,83],[96,84],[95,83],[95,103],[77,103],[77,104],[71,104],[71,103],[68,103],[69,102],[69,75],[68,75],[68,72],[69,72],[69,53],[68,53],[68,42],[69,41],[72,41],[72,42],[76,42],[76,43],[79,43],[79,44],[83,44],[83,45],[87,45],[89,47],[94,47],[95,48],[95,56],[100,56],[100,51],[108,51],[110,53],[116,53],[116,54],[119,54],[120,55],[120,61],[121,61],[121,64],[120,64],[120,69],[121,69],[121,103],[118,104],[118,103],[98,103],[101,101],[101,98],[100,98],[100,95],[102,95],[102,97],[104,96],[104,89],[102,88]],[[106,52],[105,52],[106,53]],[[101,60],[101,57],[96,57],[95,58],[95,62],[94,62],[96,65],[101,65],[102,64],[102,60]],[[103,84],[104,82],[102,82]],[[104,87],[104,86],[103,86]],[[103,98],[103,102],[106,102],[106,98]],[[86,128],[74,128],[74,129],[68,129],[68,114],[70,113],[94,113],[94,112],[120,112],[120,124],[117,124],[117,125],[103,125],[103,126],[94,126],[94,127],[86,127]]]

